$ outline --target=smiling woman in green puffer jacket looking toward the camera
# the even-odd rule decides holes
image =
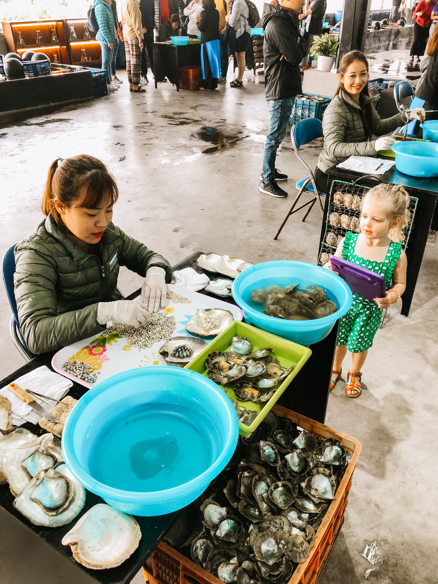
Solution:
[[[340,85],[327,106],[322,119],[324,147],[315,168],[318,190],[327,191],[326,171],[350,156],[373,156],[391,148],[395,140],[384,134],[392,133],[406,122],[406,114],[381,120],[368,93],[369,66],[360,51],[346,53],[339,64]],[[425,116],[422,108],[413,109],[408,121]],[[373,134],[382,136],[373,140]]]

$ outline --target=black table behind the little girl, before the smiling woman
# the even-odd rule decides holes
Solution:
[[[353,182],[353,180],[357,180],[361,177],[361,173],[359,172],[347,171],[345,169],[336,168],[336,166],[332,166],[332,168],[329,168],[326,172],[329,175],[328,193],[330,193],[333,180]],[[376,176],[374,179],[369,175],[366,175],[363,179],[360,178],[360,181],[358,182],[364,186],[376,186],[378,182],[391,185],[402,185],[409,194],[418,198],[411,235],[409,235],[408,245],[405,249],[406,258],[408,259],[408,270],[406,272],[406,290],[402,296],[401,314],[407,317],[409,315],[409,310],[411,309],[412,297],[415,291],[421,262],[423,260],[429,229],[432,228],[436,230],[438,228],[438,207],[436,206],[438,198],[438,180],[416,178],[415,176],[408,176],[397,170],[390,169],[385,172],[384,175]],[[324,241],[328,207],[329,196],[325,197],[324,218],[322,219],[319,251],[321,251],[321,245]]]

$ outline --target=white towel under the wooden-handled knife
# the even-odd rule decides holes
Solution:
[[[65,394],[67,394],[69,388],[73,385],[72,381],[62,377],[58,373],[53,373],[48,367],[43,365],[43,367],[38,367],[29,373],[26,373],[22,377],[19,377],[14,381],[19,385],[22,390],[36,391],[39,394],[48,395],[55,399],[62,399]],[[16,397],[11,390],[8,390],[8,386],[3,387],[0,390],[0,394],[8,398],[12,405],[12,423],[14,426],[21,426],[25,422],[32,422],[37,424],[43,417],[38,412],[27,405],[26,402],[21,401],[20,398]],[[48,412],[53,408],[49,406],[46,402],[39,397],[33,396],[35,401],[43,406]],[[53,404],[57,405],[57,404]]]

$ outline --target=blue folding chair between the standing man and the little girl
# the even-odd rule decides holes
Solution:
[[[274,239],[277,239],[277,237],[279,237],[280,231],[283,229],[290,215],[292,215],[293,213],[297,213],[297,211],[299,211],[303,207],[309,206],[307,211],[304,213],[304,217],[303,219],[301,219],[301,221],[305,221],[305,218],[310,213],[312,207],[317,201],[319,204],[319,208],[321,210],[321,214],[324,217],[324,208],[322,207],[321,196],[325,196],[325,193],[317,189],[313,172],[309,168],[307,162],[305,162],[303,158],[301,158],[299,152],[299,149],[301,146],[303,146],[303,144],[308,144],[308,142],[311,142],[316,138],[321,138],[321,136],[322,136],[321,120],[317,120],[314,117],[310,117],[307,120],[298,121],[298,123],[296,123],[290,131],[290,138],[292,141],[292,145],[294,147],[295,155],[309,174],[308,176],[305,176],[304,179],[298,180],[298,182],[296,183],[295,186],[298,189],[298,194],[295,197],[295,200],[291,208],[289,209],[286,217],[284,217],[284,221],[283,223],[281,223],[280,228],[277,231]],[[295,206],[298,203],[298,200],[300,200],[300,197],[303,193],[311,193],[313,194],[313,198],[310,201],[307,201],[307,203],[304,203],[304,205],[301,205],[301,207],[298,207],[296,209]]]

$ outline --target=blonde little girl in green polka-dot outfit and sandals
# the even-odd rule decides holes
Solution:
[[[387,288],[384,298],[372,301],[353,294],[352,307],[340,319],[330,391],[342,374],[342,361],[349,350],[352,352],[346,385],[349,398],[357,398],[362,392],[361,368],[373,345],[382,311],[395,304],[405,291],[407,262],[401,242],[408,205],[409,195],[403,187],[377,185],[363,197],[360,233],[347,231],[336,249],[338,258],[384,276]],[[332,269],[330,262],[324,267]]]

